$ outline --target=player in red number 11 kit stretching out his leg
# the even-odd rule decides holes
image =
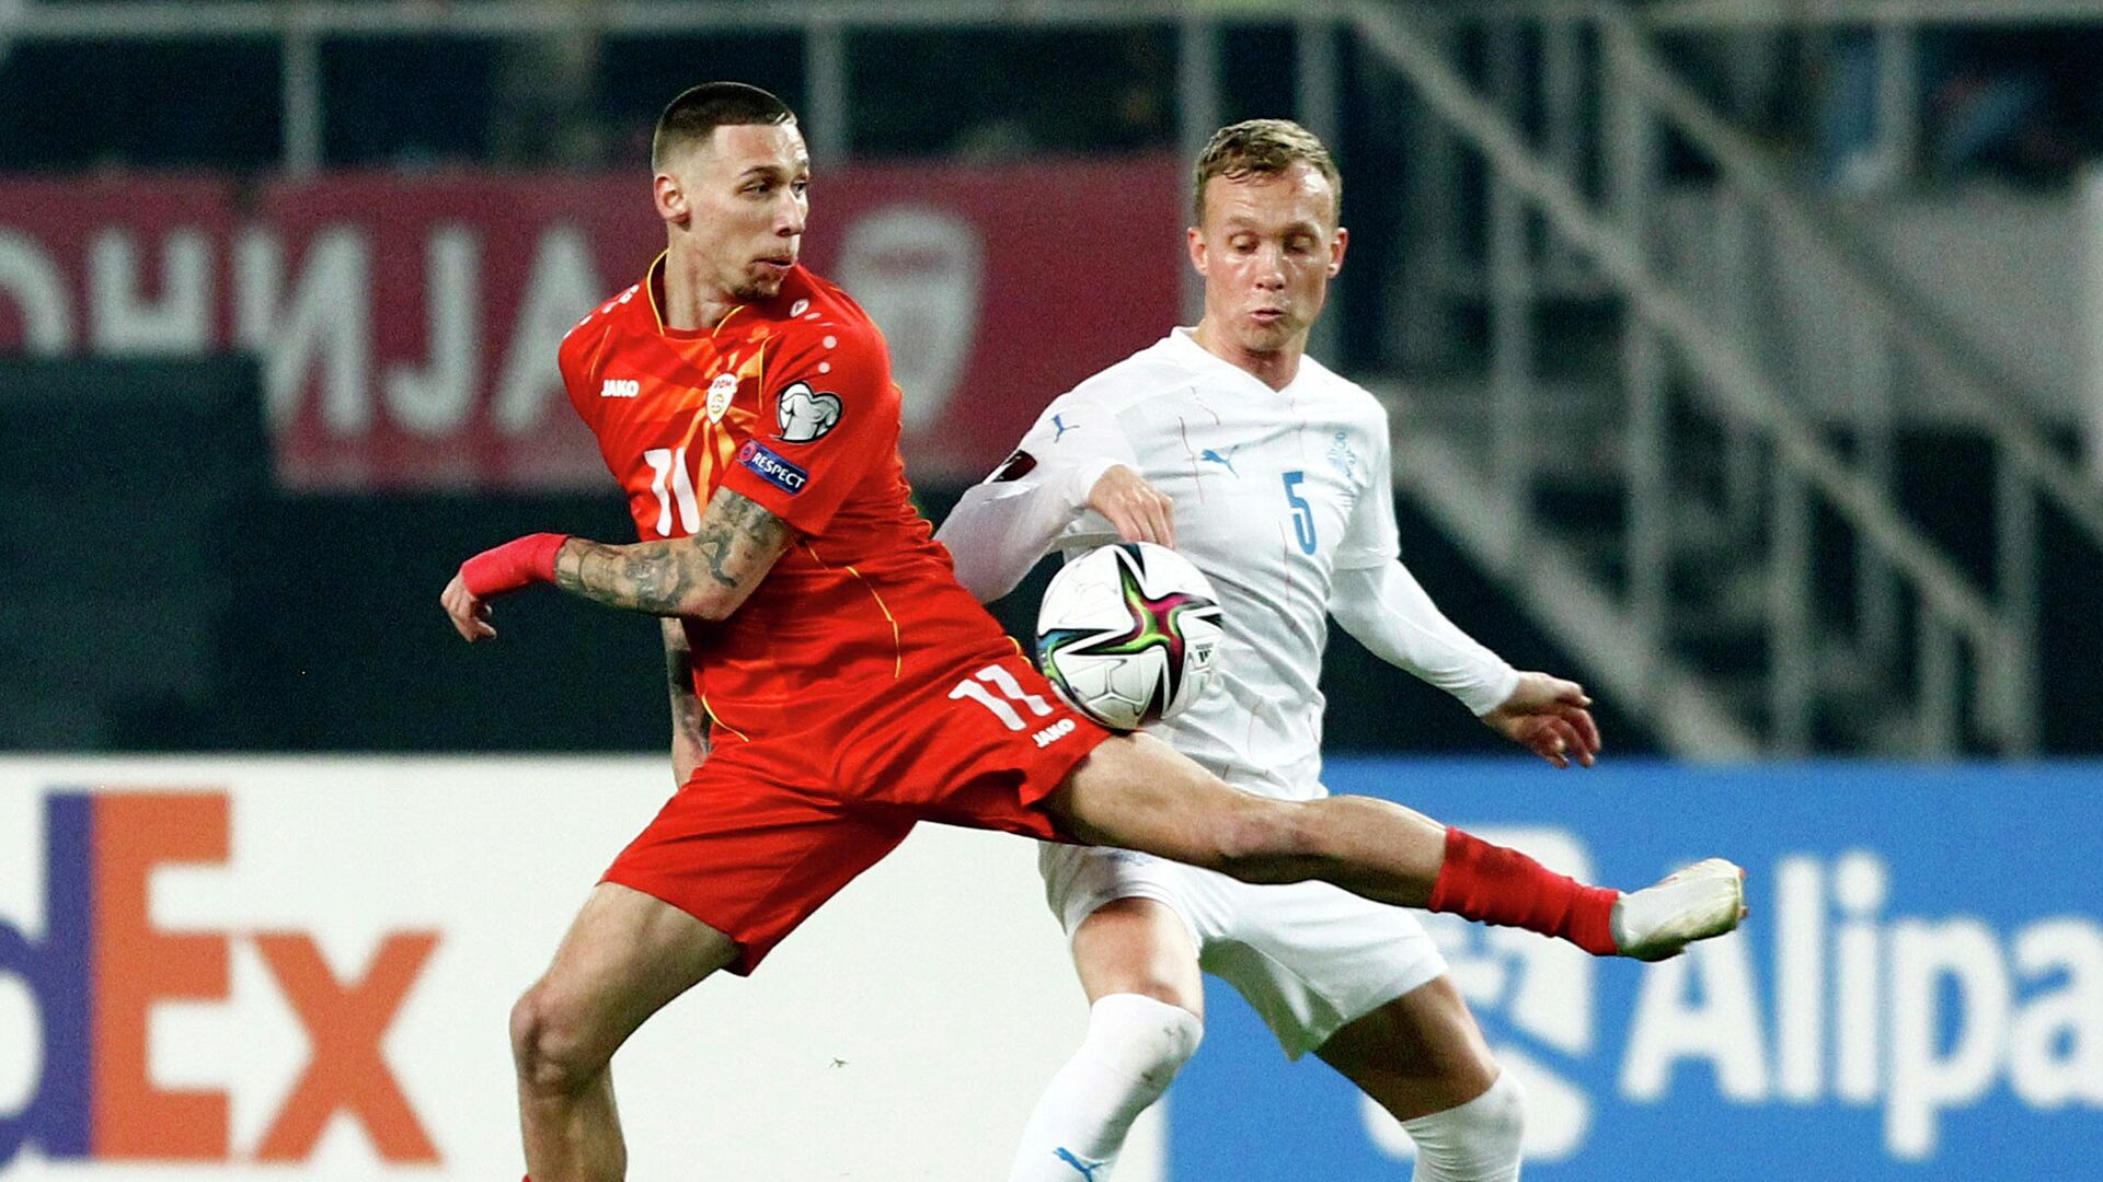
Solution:
[[[1598,955],[1737,925],[1735,869],[1588,888],[1386,801],[1239,793],[1073,713],[913,511],[883,339],[797,265],[810,162],[789,107],[696,86],[658,120],[652,168],[665,254],[562,345],[644,541],[532,534],[442,595],[469,641],[496,635],[488,597],[530,583],[677,620],[715,740],[511,1012],[534,1180],[620,1178],[614,1049],[709,974],[751,972],[921,820],[1323,879]]]

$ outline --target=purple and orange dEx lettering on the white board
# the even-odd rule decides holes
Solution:
[[[307,1161],[336,1115],[383,1161],[437,1163],[437,1148],[381,1056],[381,1041],[437,946],[387,932],[362,980],[336,980],[313,936],[164,932],[154,873],[227,860],[223,793],[53,793],[44,799],[44,923],[0,921],[0,978],[27,986],[42,1049],[27,1100],[0,1108],[0,1171],[34,1144],[46,1159]],[[32,925],[34,930],[36,925]],[[233,946],[248,942],[305,1028],[311,1058],[261,1140],[229,1146],[229,1096],[154,1083],[154,1007],[227,1001]],[[34,1037],[34,1035],[32,1035]]]

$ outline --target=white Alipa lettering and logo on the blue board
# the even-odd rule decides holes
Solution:
[[[1485,829],[1556,871],[1590,877],[1565,831]],[[1642,970],[1619,1024],[1602,1028],[1592,957],[1560,940],[1426,917],[1497,1058],[1527,1087],[1527,1157],[1586,1144],[1602,1102],[1668,1104],[1714,1087],[1733,1106],[1882,1108],[1893,1161],[1937,1155],[1945,1113],[2006,1085],[2038,1113],[2103,1108],[2103,928],[2046,915],[1996,930],[1977,915],[1886,917],[1891,864],[1876,852],[1788,854],[1752,881],[1760,925]],[[1760,963],[1760,959],[1771,963]],[[1579,1079],[1613,1096],[1586,1094]],[[1611,1119],[1611,1117],[1609,1117]],[[1373,1142],[1409,1155],[1377,1106]]]

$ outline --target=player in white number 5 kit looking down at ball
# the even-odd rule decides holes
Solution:
[[[1338,198],[1327,149],[1298,124],[1220,130],[1188,231],[1203,322],[1052,402],[938,538],[980,599],[1049,549],[1157,541],[1195,562],[1220,591],[1224,675],[1152,732],[1239,789],[1325,795],[1329,616],[1552,763],[1592,763],[1584,688],[1514,671],[1401,566],[1386,412],[1302,355],[1344,261]],[[1249,999],[1287,1056],[1319,1054],[1394,1113],[1420,1182],[1518,1176],[1518,1083],[1411,913],[1127,850],[1043,845],[1041,869],[1089,1031],[1039,1100],[1009,1182],[1110,1176],[1131,1121],[1197,1049],[1201,967]]]

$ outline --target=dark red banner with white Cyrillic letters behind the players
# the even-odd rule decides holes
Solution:
[[[1167,330],[1178,191],[1152,156],[818,177],[803,259],[890,339],[915,477]],[[599,488],[555,345],[662,246],[639,175],[0,181],[0,353],[257,351],[290,488]]]

